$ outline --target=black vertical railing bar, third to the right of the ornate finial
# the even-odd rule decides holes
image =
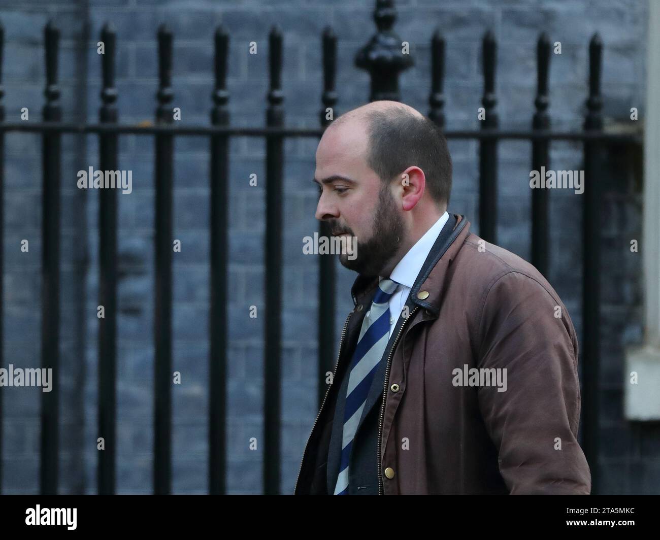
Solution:
[[[537,43],[537,96],[534,100],[536,112],[532,119],[532,129],[550,129],[550,116],[547,109],[548,71],[550,69],[550,39],[543,32]],[[550,140],[532,141],[532,170],[539,171],[549,164]],[[542,180],[543,181],[543,180]],[[532,189],[532,264],[545,277],[548,277],[548,190]]]

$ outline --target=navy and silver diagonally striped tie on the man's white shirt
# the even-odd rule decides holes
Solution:
[[[350,362],[350,376],[346,389],[344,428],[341,441],[341,464],[335,485],[335,495],[348,494],[348,457],[355,430],[362,417],[369,388],[389,341],[389,298],[399,284],[381,279],[374,295],[372,307],[364,316],[362,329]]]

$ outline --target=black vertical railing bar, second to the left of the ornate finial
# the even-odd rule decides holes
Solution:
[[[284,125],[282,101],[282,30],[273,26],[269,36],[270,90],[266,125]],[[266,321],[264,355],[263,482],[265,494],[280,491],[280,411],[282,341],[282,148],[281,135],[266,137]]]

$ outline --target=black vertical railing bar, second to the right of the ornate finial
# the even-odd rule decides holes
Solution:
[[[496,42],[491,31],[483,40],[484,96],[482,105],[485,118],[482,129],[498,127],[495,112],[495,62]],[[497,242],[497,139],[482,139],[479,145],[479,236],[495,244]]]

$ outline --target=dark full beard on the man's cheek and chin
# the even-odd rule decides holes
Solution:
[[[339,255],[339,262],[350,270],[366,276],[381,275],[382,269],[395,255],[403,241],[403,219],[397,211],[394,197],[384,186],[378,193],[378,208],[374,217],[371,238],[356,238],[356,257],[348,259],[348,253]],[[347,231],[354,236],[352,232]],[[353,253],[350,254],[353,256]]]

